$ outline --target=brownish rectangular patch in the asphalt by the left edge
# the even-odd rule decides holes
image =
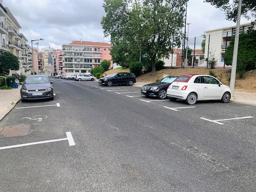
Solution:
[[[0,138],[25,136],[27,135],[29,128],[30,125],[17,125],[13,127],[5,127],[0,132]]]

